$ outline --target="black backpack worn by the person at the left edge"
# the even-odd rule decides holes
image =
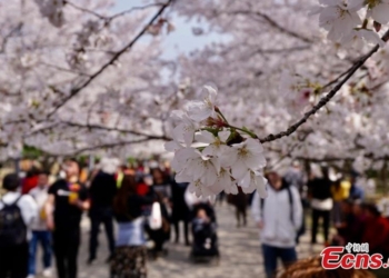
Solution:
[[[4,206],[0,210],[0,247],[12,247],[27,242],[27,226],[17,205],[20,198],[21,196],[11,205],[0,199]]]

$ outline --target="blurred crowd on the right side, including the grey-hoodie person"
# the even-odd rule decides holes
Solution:
[[[330,175],[328,167],[312,167],[307,175],[293,162],[283,175],[268,171],[266,177],[268,197],[260,199],[255,193],[247,200],[252,199],[251,211],[260,229],[267,277],[275,277],[278,259],[286,267],[296,264],[296,246],[307,227],[311,231],[311,250],[318,244],[321,226],[323,247],[368,244],[370,254],[388,258],[389,218],[381,215],[377,203],[366,200],[357,172]]]

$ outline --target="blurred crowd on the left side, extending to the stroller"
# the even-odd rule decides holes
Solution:
[[[201,246],[216,247],[212,206],[190,193],[188,183],[174,182],[168,163],[119,165],[114,159],[103,159],[86,173],[76,160],[69,159],[53,179],[50,172],[37,168],[22,179],[16,173],[7,175],[3,189],[6,193],[0,200],[1,278],[36,277],[39,245],[43,277],[53,275],[53,255],[58,277],[76,278],[83,211],[88,211],[90,218],[87,264],[93,265],[97,260],[98,235],[103,226],[111,277],[147,277],[147,258],[157,259],[168,254],[164,244],[170,240],[172,229],[173,241],[180,241],[180,222],[183,224],[183,244],[192,247],[192,255],[203,251]],[[150,222],[156,214],[160,221],[157,226]]]

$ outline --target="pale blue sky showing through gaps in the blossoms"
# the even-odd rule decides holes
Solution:
[[[120,12],[139,6],[142,6],[141,0],[117,0],[117,6],[113,8],[113,12]],[[169,33],[163,40],[163,47],[166,49],[163,56],[166,58],[174,58],[182,52],[189,53],[212,41],[220,40],[218,34],[193,36],[193,27],[201,27],[205,29],[207,29],[207,27],[199,26],[192,21],[189,22],[186,18],[173,16],[171,18],[171,23],[174,26],[176,30]]]

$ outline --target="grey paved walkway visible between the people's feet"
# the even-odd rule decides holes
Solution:
[[[235,211],[227,205],[216,208],[218,215],[218,236],[220,244],[220,264],[218,266],[207,264],[192,264],[189,261],[189,247],[168,244],[169,256],[148,264],[150,278],[247,278],[263,277],[262,256],[258,240],[258,230],[249,217],[246,228],[236,228]],[[89,219],[82,221],[82,245],[79,257],[79,278],[107,278],[108,248],[104,234],[100,234],[100,248],[97,264],[88,266],[88,238]],[[298,247],[299,258],[310,254],[308,235],[303,236]],[[316,254],[320,252],[317,246]]]

